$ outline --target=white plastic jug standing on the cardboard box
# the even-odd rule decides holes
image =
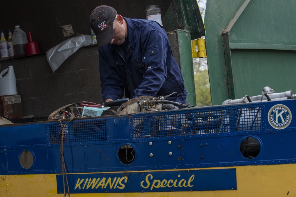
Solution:
[[[0,96],[17,95],[17,86],[13,66],[0,73]]]

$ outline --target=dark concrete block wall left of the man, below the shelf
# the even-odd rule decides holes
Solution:
[[[96,46],[80,48],[53,73],[46,54],[0,61],[0,70],[12,65],[24,116],[44,121],[58,108],[82,101],[102,103]]]

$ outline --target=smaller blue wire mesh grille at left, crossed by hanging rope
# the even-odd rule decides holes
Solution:
[[[75,120],[63,125],[63,143],[79,143],[89,141],[107,140],[106,119]],[[64,126],[65,125],[65,126]],[[59,134],[61,132],[60,123],[49,123],[49,143],[59,144]]]

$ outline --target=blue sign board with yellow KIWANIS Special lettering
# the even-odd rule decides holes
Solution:
[[[56,175],[56,178],[57,193],[62,193],[63,176]],[[70,193],[209,191],[237,188],[234,168],[78,173],[67,174],[67,180]]]

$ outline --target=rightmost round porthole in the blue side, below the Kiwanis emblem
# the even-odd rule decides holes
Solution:
[[[242,140],[239,149],[242,156],[247,159],[254,159],[258,156],[261,147],[258,139],[254,137],[246,137]]]

